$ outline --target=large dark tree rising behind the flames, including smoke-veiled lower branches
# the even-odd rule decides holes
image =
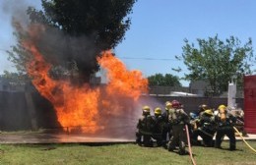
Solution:
[[[127,17],[136,0],[41,0],[43,11],[30,7],[31,24],[42,24],[36,46],[53,66],[72,70],[75,64],[83,82],[98,71],[96,56],[112,49],[124,39],[131,25]],[[28,53],[21,46],[23,34],[16,32],[20,41],[9,52],[19,71],[25,71]]]

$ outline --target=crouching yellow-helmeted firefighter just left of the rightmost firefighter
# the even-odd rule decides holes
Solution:
[[[200,136],[203,139],[204,146],[213,146],[213,138],[216,133],[215,129],[215,117],[212,109],[207,109],[204,112],[201,113],[198,124],[199,127],[197,127],[193,134],[192,134],[192,140],[193,144],[200,144],[198,141],[198,136]]]

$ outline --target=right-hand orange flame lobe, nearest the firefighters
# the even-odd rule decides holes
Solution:
[[[125,65],[110,51],[104,51],[97,58],[99,65],[104,68],[110,81],[107,85],[109,94],[124,94],[137,100],[142,92],[148,92],[148,80],[143,78],[140,71],[128,71]]]

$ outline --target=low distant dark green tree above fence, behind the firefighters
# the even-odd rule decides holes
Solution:
[[[178,77],[172,76],[170,74],[156,74],[148,77],[150,85],[165,85],[165,86],[181,86]]]

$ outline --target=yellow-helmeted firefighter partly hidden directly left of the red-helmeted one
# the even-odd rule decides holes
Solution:
[[[161,133],[162,146],[164,146],[164,147],[166,147],[166,142],[171,137],[171,128],[170,128],[170,125],[169,125],[169,122],[168,122],[168,115],[169,115],[169,110],[170,109],[172,109],[171,102],[166,101],[165,102],[165,111],[162,113],[162,118],[163,118],[163,121],[164,121],[164,125],[163,125],[162,133]]]

